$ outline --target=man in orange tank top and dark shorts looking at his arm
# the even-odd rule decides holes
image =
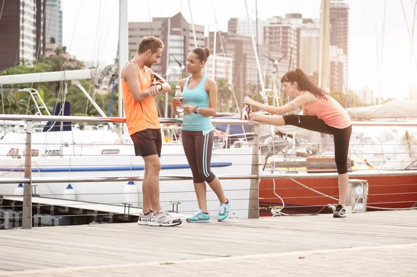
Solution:
[[[142,182],[143,210],[138,224],[150,226],[175,226],[181,224],[159,202],[159,172],[161,171],[161,126],[155,96],[171,91],[164,80],[156,81],[150,69],[158,62],[163,42],[150,35],[144,37],[132,60],[122,69],[122,93],[126,124],[135,146],[136,156],[145,161]]]

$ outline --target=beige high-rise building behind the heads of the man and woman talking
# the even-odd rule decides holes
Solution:
[[[194,24],[197,47],[204,47],[204,26]],[[178,62],[186,65],[188,53],[195,48],[193,27],[183,17],[181,12],[173,17],[156,17],[152,22],[129,22],[129,56],[133,58],[138,50],[138,44],[143,37],[154,35],[165,44],[160,63],[152,69],[167,81],[177,83],[183,72]],[[177,61],[176,61],[177,60]]]

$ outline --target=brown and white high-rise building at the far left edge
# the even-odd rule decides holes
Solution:
[[[3,3],[0,21],[0,70],[34,65],[44,50],[44,0]]]

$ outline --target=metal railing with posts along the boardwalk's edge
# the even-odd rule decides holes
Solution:
[[[51,177],[33,177],[32,176],[32,124],[33,121],[71,121],[71,122],[97,122],[97,123],[124,123],[126,119],[119,117],[67,117],[67,116],[41,116],[41,115],[0,115],[1,120],[18,120],[27,121],[26,126],[26,150],[24,158],[24,177],[23,178],[0,178],[0,183],[22,183],[24,184],[23,195],[23,216],[22,228],[32,228],[32,184],[37,183],[79,183],[79,182],[119,182],[119,181],[142,181],[142,177],[133,176],[119,176],[119,177],[83,177],[83,178],[51,178]],[[293,178],[334,178],[337,173],[308,173],[308,174],[260,174],[259,167],[259,122],[243,121],[240,119],[211,119],[213,124],[224,125],[254,125],[254,136],[252,142],[252,166],[250,174],[240,175],[218,175],[218,178],[223,180],[230,179],[250,179],[250,199],[248,207],[248,217],[259,217],[259,181],[261,179],[293,179]],[[181,124],[182,119],[160,119],[161,124]],[[407,121],[356,121],[352,123],[353,126],[417,126],[417,122]],[[416,175],[416,170],[407,171],[370,171],[370,172],[351,172],[350,176],[404,176]],[[191,180],[191,175],[183,176],[161,176],[161,181],[172,180]]]

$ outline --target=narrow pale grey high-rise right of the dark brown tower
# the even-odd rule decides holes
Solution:
[[[45,12],[47,42],[55,43],[56,47],[63,47],[63,10],[61,0],[44,1],[47,1]]]

